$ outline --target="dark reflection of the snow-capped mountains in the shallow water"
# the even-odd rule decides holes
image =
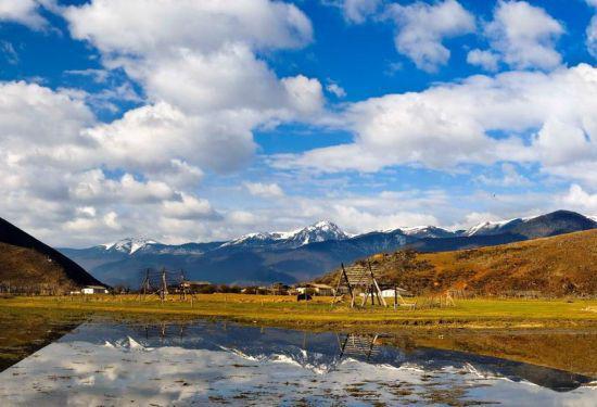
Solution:
[[[558,392],[568,392],[592,381],[586,376],[496,357],[428,347],[405,351],[382,344],[384,341],[377,335],[306,333],[224,322],[84,327],[62,341],[109,343],[118,347],[175,346],[225,351],[249,360],[291,363],[320,374],[335,370],[346,360],[356,359],[370,365],[416,368],[429,372],[453,368],[483,378],[528,381]]]

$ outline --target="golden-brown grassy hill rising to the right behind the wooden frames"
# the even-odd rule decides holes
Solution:
[[[442,253],[377,254],[380,279],[425,294],[447,289],[480,295],[597,295],[597,230]],[[333,283],[338,270],[319,281]]]

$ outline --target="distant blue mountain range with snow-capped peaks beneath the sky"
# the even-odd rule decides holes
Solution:
[[[597,221],[569,211],[531,218],[483,222],[468,230],[434,226],[398,228],[350,236],[320,221],[291,232],[245,234],[224,242],[162,244],[151,239],[124,239],[88,249],[60,249],[109,284],[137,288],[147,268],[183,270],[190,280],[262,284],[310,280],[380,252],[411,247],[444,252],[491,246],[597,228]]]

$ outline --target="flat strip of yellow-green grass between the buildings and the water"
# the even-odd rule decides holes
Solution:
[[[203,294],[191,304],[174,296],[139,301],[135,295],[0,298],[0,309],[59,309],[111,313],[118,317],[165,318],[213,317],[267,326],[392,331],[405,327],[423,328],[597,328],[597,301],[581,300],[460,300],[454,307],[417,309],[367,307],[351,309],[330,306],[329,297],[297,303],[292,296]],[[114,316],[114,315],[113,315]]]

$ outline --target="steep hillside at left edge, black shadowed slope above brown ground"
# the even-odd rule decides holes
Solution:
[[[0,290],[60,294],[101,284],[68,257],[0,218]]]

